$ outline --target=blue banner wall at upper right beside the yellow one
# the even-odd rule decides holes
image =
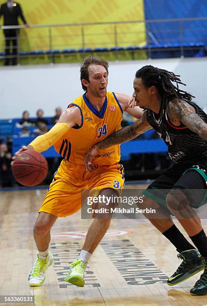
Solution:
[[[145,19],[207,17],[206,0],[144,0]],[[207,45],[207,20],[147,23],[147,42],[152,44],[198,43]],[[183,37],[179,35],[182,27]]]

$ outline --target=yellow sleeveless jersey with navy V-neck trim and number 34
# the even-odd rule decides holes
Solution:
[[[68,107],[81,111],[81,126],[70,128],[56,143],[56,151],[68,161],[83,164],[84,155],[95,143],[121,128],[122,108],[114,92],[107,92],[98,111],[86,98],[86,93],[76,98]],[[111,165],[120,160],[120,145],[100,150],[93,163]]]

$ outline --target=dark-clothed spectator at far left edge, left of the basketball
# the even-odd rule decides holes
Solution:
[[[6,143],[0,144],[0,170],[2,187],[10,187],[13,185],[11,173],[12,154],[8,151]]]

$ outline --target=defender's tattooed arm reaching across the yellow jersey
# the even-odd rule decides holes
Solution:
[[[151,128],[151,125],[147,122],[146,113],[144,112],[142,118],[135,121],[132,125],[121,128],[106,137],[104,140],[96,143],[84,157],[86,170],[90,172],[93,171],[92,160],[96,156],[98,150],[134,139]]]

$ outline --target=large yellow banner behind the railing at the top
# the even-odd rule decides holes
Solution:
[[[0,0],[0,4],[6,0]],[[47,50],[81,47],[144,45],[145,25],[143,0],[19,0],[28,23],[63,24],[86,22],[137,23],[94,24],[24,28],[20,31],[20,50]],[[20,24],[23,24],[20,20]],[[3,25],[3,17],[1,17]],[[1,51],[4,35],[1,30]]]

